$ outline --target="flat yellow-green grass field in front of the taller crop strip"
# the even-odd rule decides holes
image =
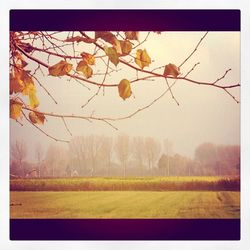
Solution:
[[[239,218],[239,192],[11,192],[11,218]]]

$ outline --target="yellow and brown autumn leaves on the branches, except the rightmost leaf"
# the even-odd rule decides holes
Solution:
[[[30,32],[32,35],[38,35],[38,32]],[[20,32],[22,35],[22,32]],[[20,35],[19,34],[19,35]],[[116,35],[111,32],[95,32],[95,38],[75,36],[64,40],[65,43],[68,42],[84,42],[89,44],[94,44],[98,39],[101,39],[110,44],[110,46],[103,46],[103,50],[115,66],[120,62],[119,58],[123,56],[130,55],[132,51],[132,40],[139,40],[139,32],[124,32],[125,39],[119,40]],[[11,32],[10,39],[10,53],[11,53],[11,70],[10,70],[10,95],[13,96],[10,100],[10,117],[17,120],[22,116],[22,107],[25,105],[21,98],[16,98],[14,94],[22,94],[23,96],[29,97],[28,107],[32,109],[29,113],[29,119],[32,123],[43,124],[45,117],[42,113],[36,112],[35,110],[39,106],[39,100],[36,95],[36,86],[34,84],[34,77],[29,70],[26,70],[28,63],[26,58],[24,59],[23,53],[30,54],[33,52],[33,47],[29,43],[22,41],[17,32]],[[86,52],[81,54],[82,60],[77,64],[76,71],[83,74],[85,78],[90,78],[93,76],[92,65],[95,65],[96,58],[95,55],[91,55]],[[135,63],[143,69],[149,66],[151,63],[151,58],[149,57],[146,49],[138,49],[136,51]],[[69,75],[73,70],[73,64],[67,62],[66,59],[60,60],[58,63],[48,67],[48,73],[51,76],[61,77]],[[118,85],[119,95],[122,99],[127,99],[131,96],[131,86],[127,79],[120,81]],[[14,98],[15,96],[15,98]]]

